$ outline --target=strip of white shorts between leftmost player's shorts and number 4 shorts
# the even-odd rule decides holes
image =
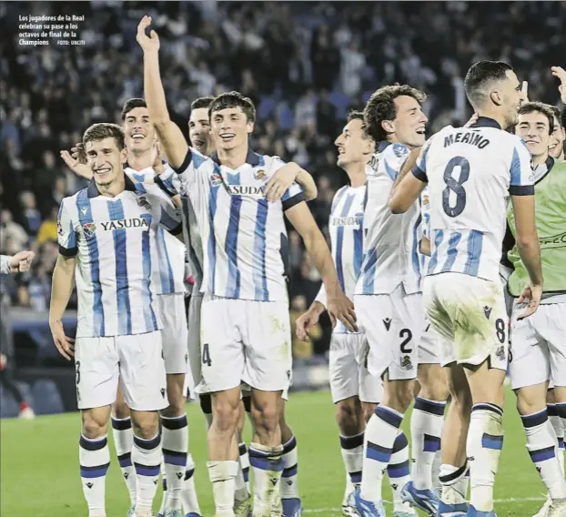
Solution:
[[[163,321],[161,337],[167,375],[186,373],[188,366],[188,330],[184,294],[159,294],[157,307]]]

